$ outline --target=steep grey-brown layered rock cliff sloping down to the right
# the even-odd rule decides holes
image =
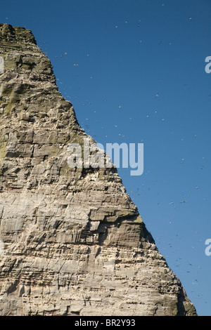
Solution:
[[[115,166],[68,166],[94,140],[32,32],[0,24],[0,56],[0,315],[196,315]]]

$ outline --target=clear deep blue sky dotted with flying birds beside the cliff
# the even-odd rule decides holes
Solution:
[[[120,176],[198,315],[211,315],[211,1],[0,7],[0,22],[32,29],[89,135],[103,145],[144,144],[143,175],[119,169]]]

